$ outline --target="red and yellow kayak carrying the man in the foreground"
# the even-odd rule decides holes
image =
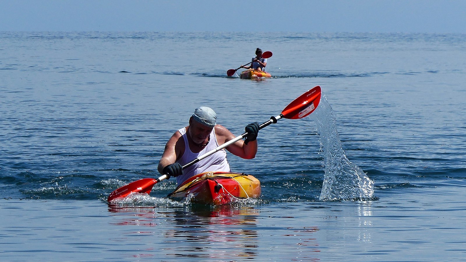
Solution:
[[[186,180],[168,197],[205,205],[223,205],[235,200],[259,198],[260,182],[252,175],[230,172],[205,172]]]

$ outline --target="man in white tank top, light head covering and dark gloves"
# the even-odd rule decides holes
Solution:
[[[216,124],[217,114],[209,107],[197,108],[189,118],[189,125],[176,131],[165,145],[158,162],[158,172],[168,178],[176,177],[181,185],[190,177],[209,171],[231,172],[225,149],[200,160],[183,170],[183,165],[235,138],[224,126]],[[226,150],[243,159],[254,159],[257,153],[259,123],[248,124],[247,138],[226,147]]]

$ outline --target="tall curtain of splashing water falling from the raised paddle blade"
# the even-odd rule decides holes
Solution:
[[[311,114],[320,133],[325,174],[319,200],[368,200],[374,198],[374,181],[346,158],[336,130],[333,110],[322,93],[318,108]]]

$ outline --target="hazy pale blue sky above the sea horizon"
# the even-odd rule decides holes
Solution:
[[[0,0],[0,31],[466,33],[466,0]]]

